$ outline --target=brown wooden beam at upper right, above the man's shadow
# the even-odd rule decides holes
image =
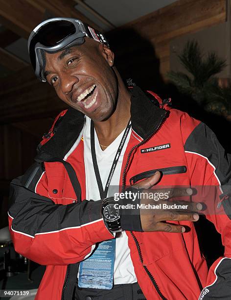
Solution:
[[[224,4],[224,0],[178,0],[117,27],[110,32],[110,35],[113,36],[116,31],[132,28],[143,38],[159,43],[186,34],[189,28],[190,32],[195,32],[203,26],[207,27],[223,22],[226,15]]]

